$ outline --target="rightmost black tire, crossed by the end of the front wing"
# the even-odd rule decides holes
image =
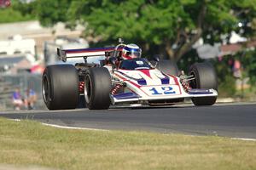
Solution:
[[[189,83],[191,88],[213,88],[218,90],[218,78],[213,66],[210,63],[195,63],[190,66],[189,75],[193,75],[195,80]],[[217,96],[192,98],[194,105],[213,105]]]

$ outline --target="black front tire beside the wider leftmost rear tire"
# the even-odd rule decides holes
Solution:
[[[90,110],[105,110],[110,105],[111,77],[107,68],[87,70],[84,77],[84,98]]]

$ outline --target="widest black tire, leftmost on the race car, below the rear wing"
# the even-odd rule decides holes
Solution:
[[[42,94],[49,110],[75,109],[79,104],[79,75],[73,65],[49,65],[42,77]]]

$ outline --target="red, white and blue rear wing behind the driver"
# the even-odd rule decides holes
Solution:
[[[117,51],[121,51],[123,48],[117,48]],[[114,51],[115,47],[108,48],[78,48],[78,49],[61,49],[57,48],[57,55],[59,59],[66,62],[69,58],[79,57],[96,57],[107,56],[108,52]]]

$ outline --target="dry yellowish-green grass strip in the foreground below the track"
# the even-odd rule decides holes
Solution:
[[[0,118],[0,164],[57,169],[256,169],[256,142],[67,130]]]

